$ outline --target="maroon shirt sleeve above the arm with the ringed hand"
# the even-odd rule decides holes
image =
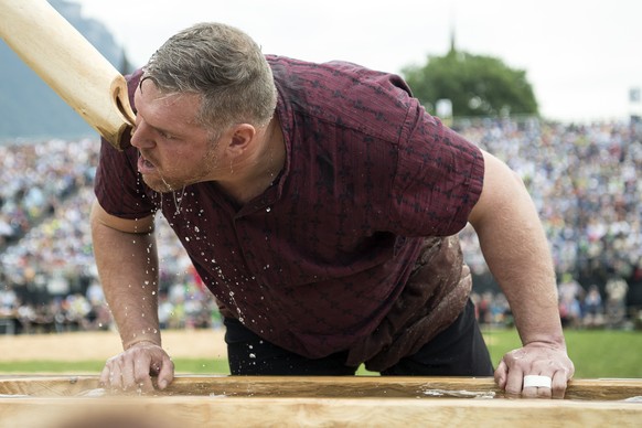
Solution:
[[[481,150],[415,100],[399,140],[390,215],[406,236],[461,231],[483,188]]]

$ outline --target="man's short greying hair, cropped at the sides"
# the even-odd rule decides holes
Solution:
[[[260,47],[222,23],[199,23],[171,36],[151,56],[143,76],[163,94],[199,95],[197,120],[213,136],[235,124],[265,126],[277,104],[271,68]]]

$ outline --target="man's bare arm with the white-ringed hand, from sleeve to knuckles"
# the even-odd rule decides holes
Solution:
[[[511,395],[563,398],[575,367],[566,352],[555,269],[542,223],[522,180],[485,152],[484,165],[482,194],[469,221],[524,344],[502,357],[495,382]],[[539,384],[527,383],[528,375],[537,376]]]

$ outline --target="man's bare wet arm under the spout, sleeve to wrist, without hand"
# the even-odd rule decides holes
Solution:
[[[92,234],[100,282],[124,347],[141,341],[160,344],[153,235],[115,229],[94,213]]]

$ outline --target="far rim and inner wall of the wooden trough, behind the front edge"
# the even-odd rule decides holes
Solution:
[[[77,396],[98,388],[98,376],[0,376],[0,396]],[[420,376],[190,376],[180,375],[158,396],[312,398],[505,397],[492,377]],[[642,378],[573,379],[566,399],[623,400],[642,396]],[[510,397],[514,398],[514,397]]]

